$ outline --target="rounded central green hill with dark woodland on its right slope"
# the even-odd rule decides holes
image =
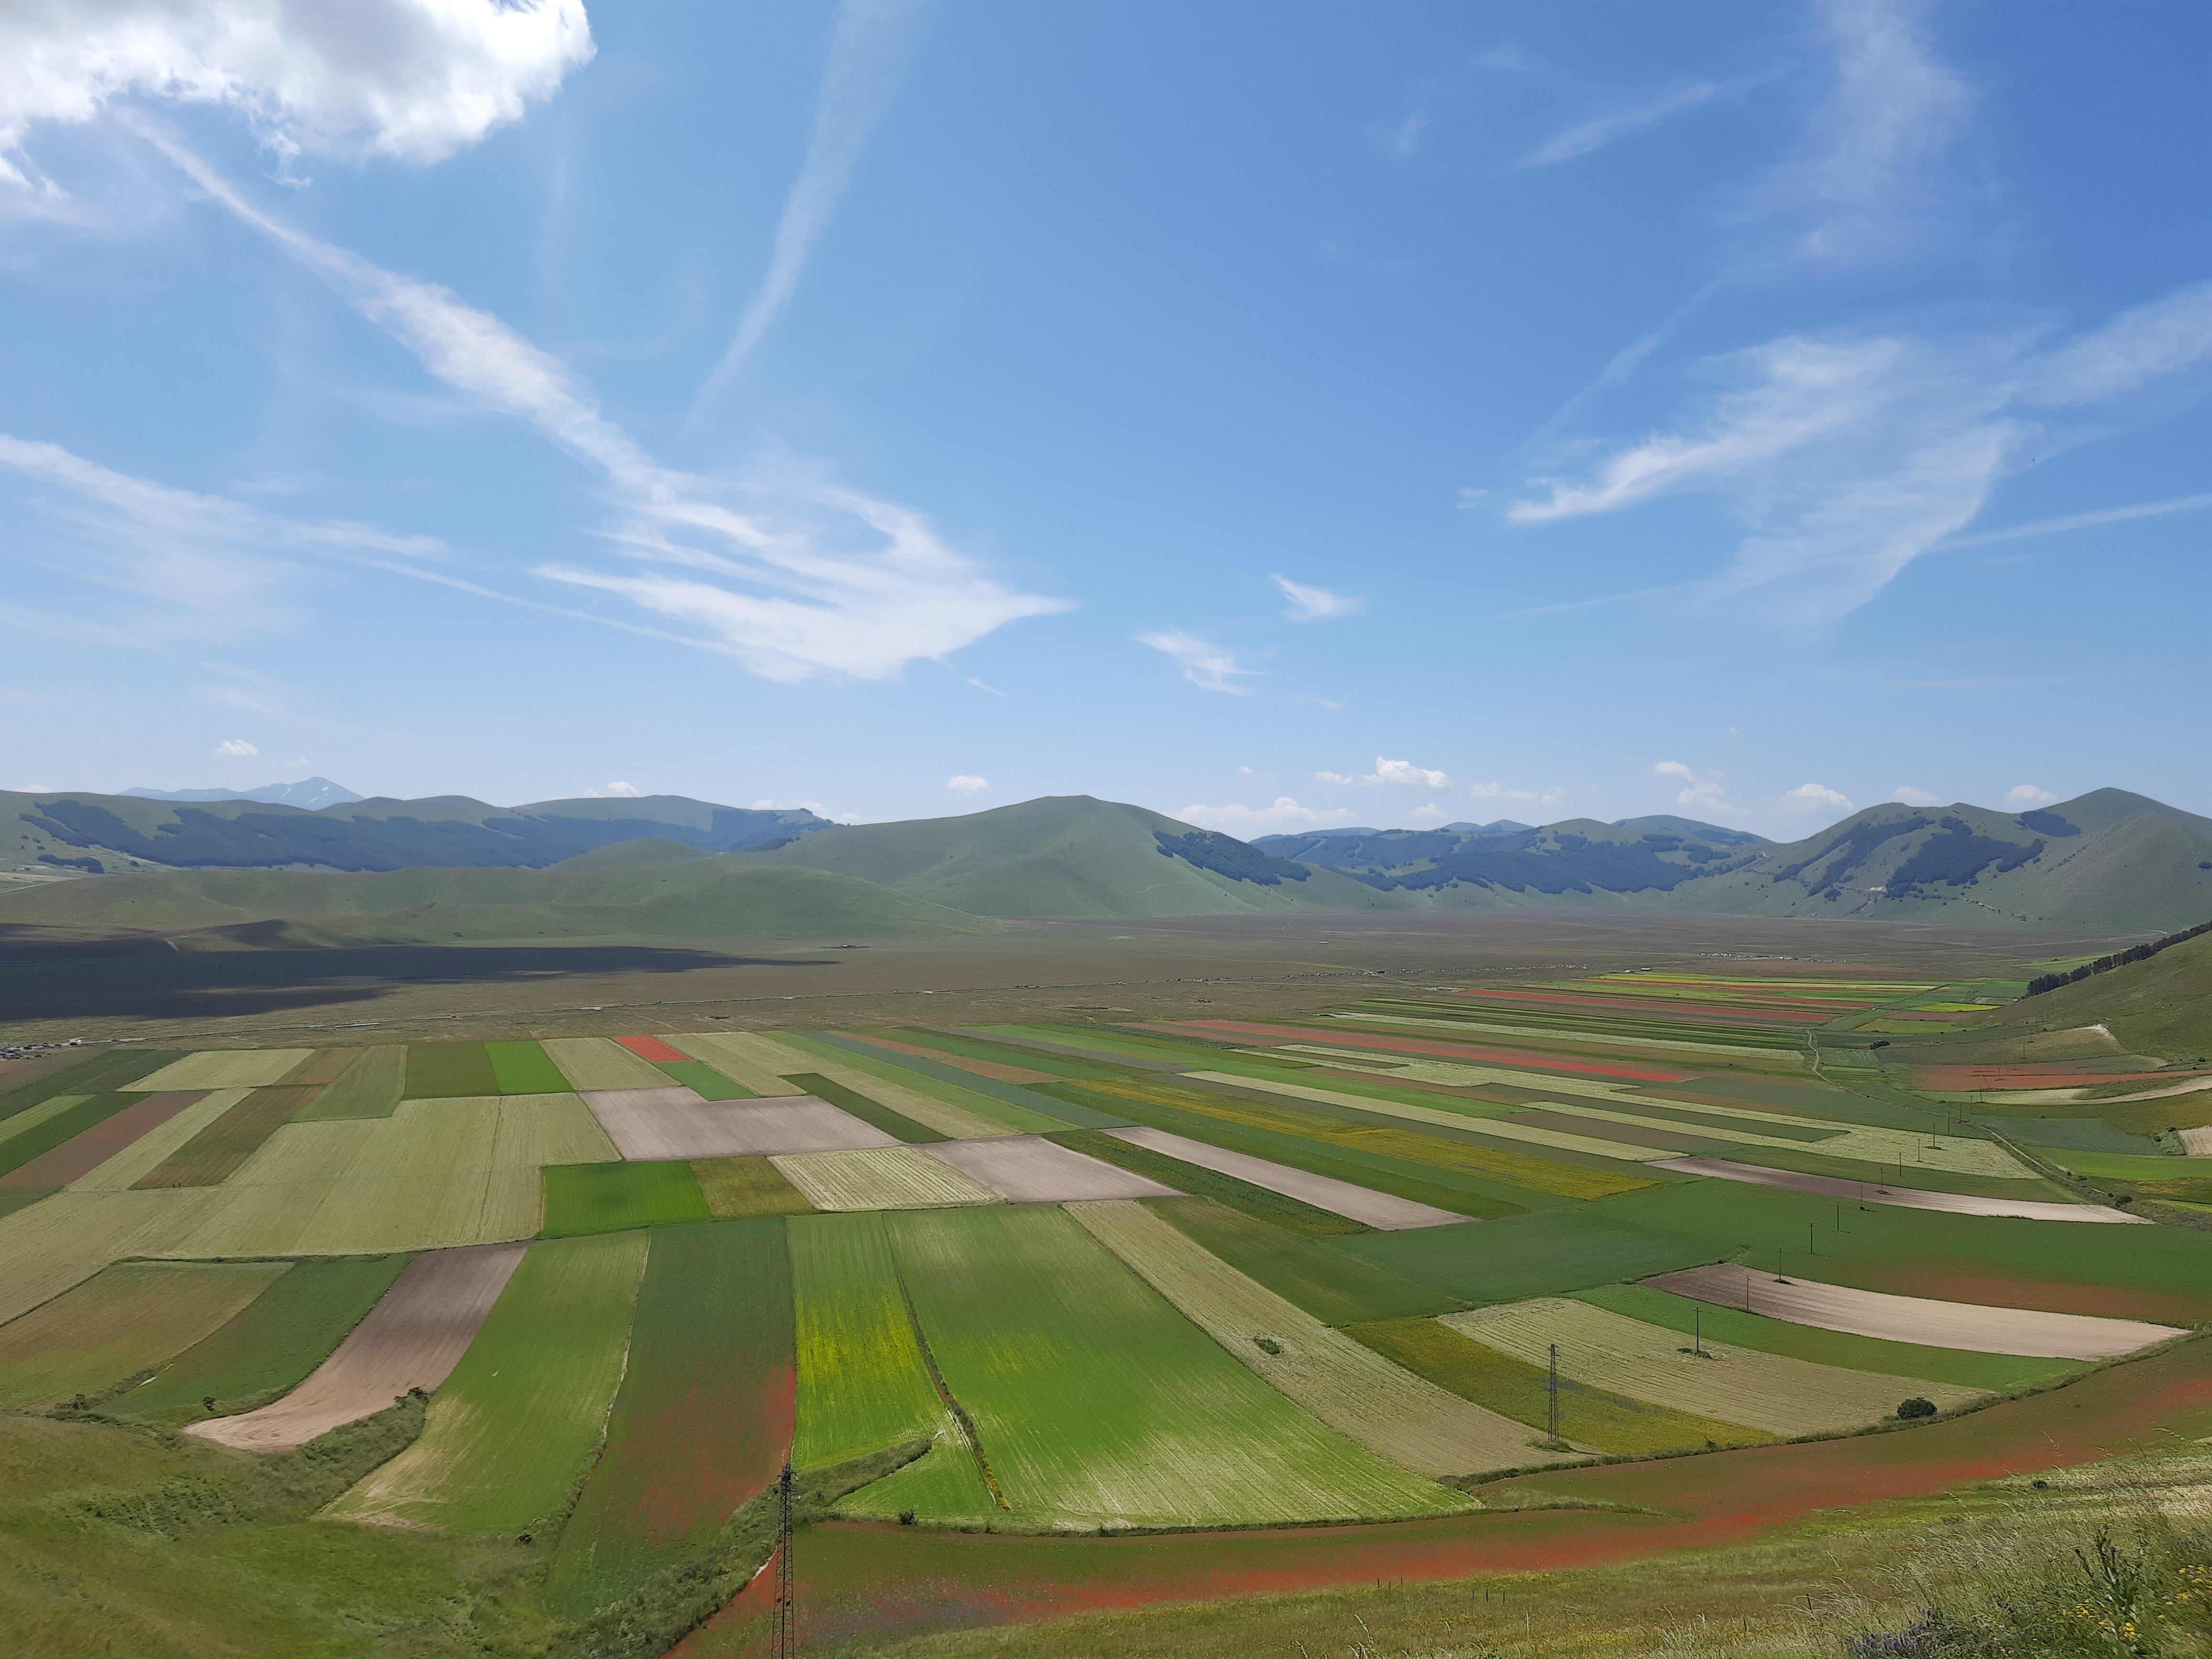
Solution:
[[[960,818],[818,830],[752,863],[858,876],[975,916],[1219,916],[1409,902],[1088,794]]]

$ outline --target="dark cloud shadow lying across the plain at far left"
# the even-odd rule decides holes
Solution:
[[[55,938],[0,925],[9,1020],[237,1018],[374,1002],[400,987],[546,987],[613,973],[841,967],[803,956],[730,956],[653,945],[367,945],[177,951],[155,938]]]

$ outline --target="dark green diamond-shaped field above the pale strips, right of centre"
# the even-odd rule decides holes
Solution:
[[[1694,1234],[1624,1221],[1597,1206],[1542,1210],[1473,1228],[1367,1232],[1358,1239],[1332,1239],[1323,1248],[1371,1261],[1467,1303],[1513,1303],[1697,1267],[1734,1254]]]

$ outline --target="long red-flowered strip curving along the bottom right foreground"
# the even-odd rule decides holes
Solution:
[[[2095,1462],[2161,1431],[2212,1431],[2212,1343],[2185,1343],[1927,1429],[1568,1469],[1478,1491],[1493,1504],[1542,1493],[1661,1513],[1522,1511],[1157,1537],[830,1524],[801,1533],[794,1568],[805,1635],[821,1644],[1378,1579],[1553,1573],[1734,1544],[1843,1504]],[[754,1579],[675,1655],[759,1652],[752,1644],[768,1599],[768,1579]]]

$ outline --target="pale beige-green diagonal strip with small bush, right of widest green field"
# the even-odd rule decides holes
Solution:
[[[1402,1469],[1473,1475],[1542,1462],[1531,1455],[1526,1425],[1391,1365],[1141,1203],[1077,1203],[1068,1214],[1239,1365]]]

